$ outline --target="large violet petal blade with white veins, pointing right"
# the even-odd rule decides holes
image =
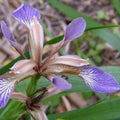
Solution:
[[[115,78],[97,67],[82,67],[80,76],[82,76],[87,86],[96,92],[113,93],[120,90]]]

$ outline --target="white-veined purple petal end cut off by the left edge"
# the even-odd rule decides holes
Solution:
[[[14,90],[14,82],[9,79],[0,77],[0,109],[3,108]]]

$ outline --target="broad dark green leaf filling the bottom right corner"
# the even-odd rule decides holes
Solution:
[[[120,119],[120,98],[101,101],[84,109],[49,115],[49,120],[115,120]]]

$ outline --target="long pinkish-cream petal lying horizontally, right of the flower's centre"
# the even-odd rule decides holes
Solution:
[[[75,55],[66,55],[66,56],[59,56],[52,60],[50,60],[47,65],[54,65],[54,64],[63,64],[63,65],[70,65],[74,67],[80,67],[84,65],[89,65],[87,60],[81,59]]]

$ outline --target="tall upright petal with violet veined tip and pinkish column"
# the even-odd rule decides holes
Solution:
[[[39,11],[25,3],[13,12],[13,16],[22,24],[25,24],[29,29],[29,48],[30,55],[34,61],[40,66],[42,59],[42,48],[44,42],[44,32],[39,24]]]

